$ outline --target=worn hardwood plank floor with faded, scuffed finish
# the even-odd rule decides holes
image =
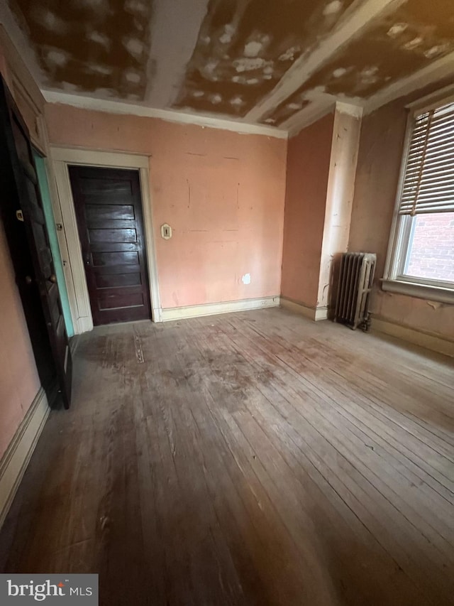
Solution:
[[[284,310],[79,337],[0,535],[101,605],[448,605],[453,362]]]

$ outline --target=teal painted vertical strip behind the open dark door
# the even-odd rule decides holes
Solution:
[[[48,173],[45,170],[44,158],[39,156],[35,151],[33,151],[33,157],[35,159],[41,198],[43,200],[45,224],[48,227],[50,251],[52,252],[55,276],[57,276],[58,291],[60,292],[60,300],[62,301],[62,311],[63,318],[65,319],[66,332],[68,337],[72,337],[74,335],[74,327],[72,325],[70,301],[68,299],[68,293],[66,290],[65,274],[63,273],[62,257],[60,255],[60,247],[58,246],[57,229],[55,229],[52,202],[50,201]]]

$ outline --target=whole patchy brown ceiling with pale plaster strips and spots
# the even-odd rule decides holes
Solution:
[[[280,129],[336,99],[367,107],[422,87],[431,67],[433,79],[454,73],[453,0],[9,0],[9,11],[43,90]]]

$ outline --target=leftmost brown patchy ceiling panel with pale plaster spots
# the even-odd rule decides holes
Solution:
[[[143,100],[152,0],[9,0],[47,80],[66,92]]]

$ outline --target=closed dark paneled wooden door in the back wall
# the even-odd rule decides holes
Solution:
[[[151,318],[138,171],[70,166],[93,323]]]

